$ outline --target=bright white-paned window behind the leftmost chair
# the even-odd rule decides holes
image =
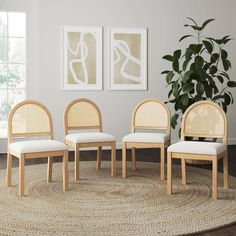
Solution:
[[[0,137],[10,109],[26,94],[26,14],[0,12]]]

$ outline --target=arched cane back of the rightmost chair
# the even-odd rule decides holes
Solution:
[[[223,109],[212,101],[192,104],[183,115],[181,139],[185,137],[221,138],[227,144],[227,118]]]

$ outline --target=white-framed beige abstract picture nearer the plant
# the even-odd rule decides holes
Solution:
[[[147,28],[109,28],[109,89],[147,90]]]

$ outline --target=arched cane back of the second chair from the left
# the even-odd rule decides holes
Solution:
[[[89,99],[72,101],[64,112],[65,134],[69,130],[99,129],[102,132],[102,118],[98,106]]]

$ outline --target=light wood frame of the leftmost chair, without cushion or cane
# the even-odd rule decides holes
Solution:
[[[31,133],[13,133],[12,132],[12,119],[15,112],[24,105],[36,105],[43,109],[49,118],[49,131],[48,132],[31,132]],[[28,159],[48,157],[47,168],[47,182],[52,181],[52,163],[54,156],[63,157],[63,191],[68,190],[68,151],[40,151],[32,153],[17,153],[10,150],[10,144],[15,138],[29,138],[29,137],[48,137],[54,139],[52,117],[49,110],[40,102],[34,100],[26,100],[18,103],[9,113],[8,117],[8,152],[7,152],[7,186],[12,186],[12,157],[15,156],[19,159],[19,196],[25,196],[25,161]]]

